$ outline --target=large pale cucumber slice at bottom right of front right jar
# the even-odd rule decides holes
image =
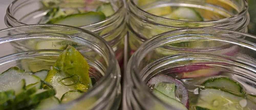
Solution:
[[[254,104],[244,99],[243,97],[233,95],[218,89],[204,89],[199,91],[199,97],[196,106],[211,110],[244,110],[253,109]]]

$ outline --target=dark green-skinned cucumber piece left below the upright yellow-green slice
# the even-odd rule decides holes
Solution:
[[[36,93],[29,96],[30,100],[28,102],[28,105],[37,104],[41,100],[52,97],[55,94],[56,94],[56,92],[54,89],[50,89],[50,90],[39,89],[39,90],[37,90]]]

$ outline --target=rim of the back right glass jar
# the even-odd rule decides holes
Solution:
[[[244,6],[241,12],[228,17],[228,18],[223,18],[223,19],[218,19],[218,20],[209,20],[209,21],[185,21],[185,20],[175,20],[175,19],[169,19],[169,18],[165,18],[165,17],[161,17],[161,16],[157,16],[151,13],[146,12],[145,10],[141,9],[140,7],[138,7],[135,3],[134,0],[129,0],[130,3],[136,7],[138,10],[140,10],[142,13],[148,15],[148,16],[152,16],[152,17],[159,17],[161,19],[164,20],[169,20],[169,21],[176,21],[176,22],[185,22],[185,23],[219,23],[219,22],[225,22],[225,21],[230,21],[230,20],[234,20],[237,19],[240,15],[246,15],[246,13],[248,12],[248,2],[246,0],[243,0],[244,2]]]

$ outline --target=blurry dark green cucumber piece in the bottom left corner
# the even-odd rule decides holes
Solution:
[[[0,109],[7,109],[12,106],[15,99],[15,91],[9,90],[0,92]]]

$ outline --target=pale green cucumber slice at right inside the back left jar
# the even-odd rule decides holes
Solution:
[[[102,4],[97,8],[97,12],[102,12],[106,17],[109,17],[115,13],[115,10],[110,3]]]

